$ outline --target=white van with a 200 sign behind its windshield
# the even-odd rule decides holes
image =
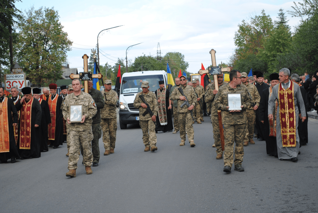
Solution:
[[[136,94],[141,92],[141,82],[149,82],[149,90],[155,92],[159,88],[159,81],[167,86],[167,72],[143,71],[126,72],[122,75],[119,91],[119,125],[126,129],[127,124],[139,123],[139,109],[134,107]]]

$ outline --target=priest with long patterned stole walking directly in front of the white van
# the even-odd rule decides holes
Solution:
[[[162,132],[172,132],[172,115],[171,115],[171,107],[169,108],[169,89],[164,87],[164,81],[159,81],[160,88],[155,91],[159,112],[156,118],[156,123],[158,129],[157,131]]]

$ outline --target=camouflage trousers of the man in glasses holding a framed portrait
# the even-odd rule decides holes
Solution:
[[[243,141],[246,135],[247,124],[228,125],[224,124],[224,166],[233,164],[233,147],[235,141],[235,160],[234,165],[243,162]]]

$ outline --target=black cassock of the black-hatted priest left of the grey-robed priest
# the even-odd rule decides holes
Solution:
[[[269,136],[268,99],[269,99],[269,88],[266,88],[260,94],[260,102],[259,102],[259,108],[258,108],[259,116],[258,117],[259,117],[259,122],[261,120],[264,120],[264,125],[263,125],[263,128],[261,129],[261,131],[262,131],[262,135],[264,137],[264,140],[266,141],[266,153],[267,153],[267,155],[278,156],[276,137]],[[279,116],[279,115],[277,115],[277,116]]]

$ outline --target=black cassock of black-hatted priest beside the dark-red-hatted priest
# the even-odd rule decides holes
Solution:
[[[49,148],[47,147],[47,143],[49,141],[49,133],[47,129],[47,125],[51,123],[51,115],[50,115],[50,109],[48,103],[42,99],[41,102],[41,110],[42,110],[42,119],[41,119],[41,145],[40,150],[43,151],[49,151]]]

